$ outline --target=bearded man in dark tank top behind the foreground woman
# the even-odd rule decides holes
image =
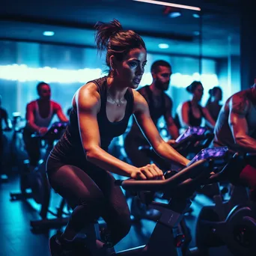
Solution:
[[[165,118],[168,133],[171,138],[176,139],[179,135],[178,129],[174,124],[171,116],[172,100],[165,94],[171,78],[171,65],[166,61],[155,61],[151,66],[151,74],[153,82],[151,85],[144,86],[138,92],[147,100],[150,109],[150,117],[154,124],[157,124],[159,118]],[[150,159],[146,153],[138,150],[141,145],[148,144],[135,120],[129,130],[124,147],[127,156],[135,166],[144,166],[150,163]]]

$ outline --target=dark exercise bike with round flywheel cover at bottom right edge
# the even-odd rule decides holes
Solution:
[[[256,255],[256,204],[237,179],[246,165],[256,166],[256,153],[234,154],[225,168],[208,183],[228,180],[234,184],[231,198],[215,197],[213,206],[203,207],[196,228],[197,252],[208,255],[211,247],[227,246],[234,255]]]

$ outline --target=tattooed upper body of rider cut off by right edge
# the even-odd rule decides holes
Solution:
[[[214,146],[256,152],[256,85],[231,96],[222,106],[214,129]]]

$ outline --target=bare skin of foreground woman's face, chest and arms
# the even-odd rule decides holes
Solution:
[[[146,57],[147,54],[144,49],[132,49],[124,61],[116,64],[116,67],[122,67],[116,72],[122,79],[125,79],[121,82],[115,82],[113,78],[108,77],[107,85],[109,87],[109,94],[112,96],[108,97],[106,103],[106,116],[109,121],[118,122],[124,118],[124,109],[127,105],[124,94],[128,87],[132,89],[138,87],[137,78],[141,78],[144,73]],[[114,64],[115,61],[117,60],[113,59]],[[133,97],[133,114],[156,153],[180,165],[187,165],[189,160],[181,156],[180,153],[163,141],[159,135],[156,126],[150,118],[147,101],[144,100],[144,97],[137,91],[133,91]],[[139,176],[141,179],[150,178],[147,170],[150,166],[143,167],[143,169],[135,168],[115,158],[100,147],[100,132],[97,123],[97,114],[100,111],[100,94],[97,91],[97,85],[88,83],[80,88],[73,98],[73,108],[78,112],[79,132],[88,162],[125,177],[138,178]],[[153,165],[153,169],[151,170],[152,173],[156,174],[155,172],[157,172],[160,174],[159,169],[155,165]]]

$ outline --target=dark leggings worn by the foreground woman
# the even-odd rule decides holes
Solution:
[[[60,166],[60,162],[51,158],[47,170],[52,189],[73,208],[69,228],[79,233],[85,225],[101,216],[111,231],[112,243],[118,243],[129,233],[129,207],[109,171],[95,168],[85,172],[74,165]]]

